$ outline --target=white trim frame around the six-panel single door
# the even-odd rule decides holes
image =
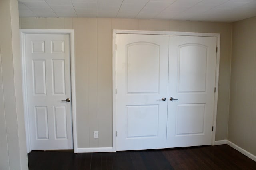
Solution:
[[[68,34],[70,35],[70,76],[71,76],[71,98],[72,98],[72,131],[73,149],[77,153],[77,132],[76,132],[76,89],[75,89],[75,53],[74,53],[74,30],[73,29],[20,29],[20,49],[22,57],[22,91],[24,104],[24,118],[26,129],[27,153],[31,152],[29,117],[28,117],[28,96],[26,82],[26,60],[25,60],[25,35],[26,34]]]

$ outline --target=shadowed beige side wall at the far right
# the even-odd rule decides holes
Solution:
[[[233,23],[228,140],[256,155],[256,17]]]

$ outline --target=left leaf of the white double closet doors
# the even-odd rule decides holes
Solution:
[[[116,150],[166,148],[168,35],[116,36]]]

